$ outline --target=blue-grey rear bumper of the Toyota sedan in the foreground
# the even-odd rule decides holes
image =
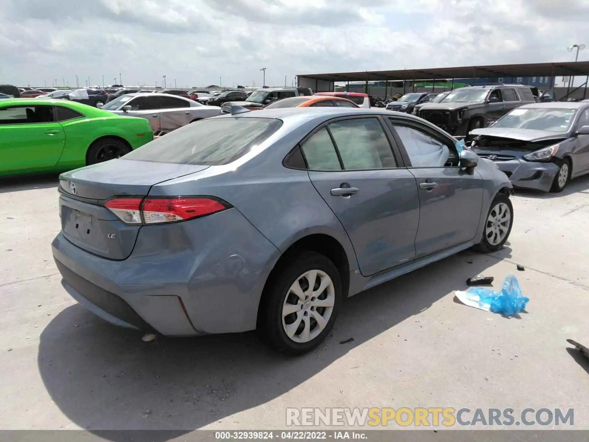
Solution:
[[[236,209],[141,227],[122,261],[92,255],[61,232],[52,252],[62,285],[80,304],[112,324],[167,336],[256,328],[262,289],[280,256]]]

